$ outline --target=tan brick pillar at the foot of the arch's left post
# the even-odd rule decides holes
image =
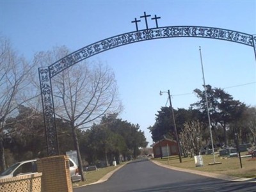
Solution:
[[[52,156],[37,160],[42,172],[42,192],[72,192],[68,156]]]

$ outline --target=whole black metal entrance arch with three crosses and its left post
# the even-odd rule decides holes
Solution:
[[[151,15],[147,15],[144,12],[144,15],[140,17],[145,19],[146,29],[139,30],[138,22],[141,20],[137,20],[135,18],[132,23],[136,24],[136,31],[100,40],[99,42],[87,45],[86,47],[68,54],[48,67],[38,68],[48,156],[55,156],[59,154],[51,78],[86,58],[90,58],[95,54],[99,54],[100,52],[108,51],[122,45],[133,44],[145,40],[173,37],[200,37],[227,40],[251,46],[254,49],[256,60],[256,35],[204,26],[168,26],[159,28],[157,19],[160,19],[160,17],[157,17],[156,15],[151,18],[151,20],[155,20],[156,28],[148,28],[147,19],[150,16]]]

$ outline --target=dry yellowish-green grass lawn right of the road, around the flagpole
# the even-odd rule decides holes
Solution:
[[[244,156],[247,152],[241,153]],[[230,175],[234,177],[246,177],[256,178],[256,159],[252,161],[252,157],[241,158],[242,166],[238,157],[223,158],[215,155],[215,162],[221,162],[221,164],[209,165],[213,163],[213,155],[203,155],[204,166],[195,166],[195,159],[186,157],[182,158],[182,163],[179,162],[179,156],[164,157],[163,159],[152,159],[163,164],[170,164],[170,166],[177,166],[179,168],[186,168],[191,170],[198,170],[201,172],[220,173],[223,175]],[[169,162],[168,162],[169,159]]]

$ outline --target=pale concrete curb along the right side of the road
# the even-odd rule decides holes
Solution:
[[[196,175],[202,175],[205,177],[211,177],[214,179],[221,179],[221,180],[229,180],[229,181],[248,181],[248,182],[256,182],[255,179],[251,179],[251,178],[243,178],[243,177],[232,177],[232,176],[228,176],[228,175],[221,175],[218,173],[209,173],[209,172],[201,172],[201,171],[197,171],[197,170],[188,170],[188,169],[184,169],[184,168],[179,168],[176,166],[170,166],[167,164],[161,164],[157,161],[154,160],[150,160],[152,163],[157,164],[158,166],[162,166],[164,168],[168,168],[170,170],[176,170],[176,171],[180,171],[180,172],[187,172],[187,173],[193,173]]]

